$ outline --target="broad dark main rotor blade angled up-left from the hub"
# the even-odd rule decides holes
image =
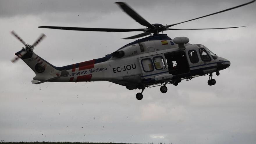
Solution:
[[[140,23],[143,26],[147,26],[148,28],[154,29],[154,26],[147,22],[143,17],[141,17],[138,13],[136,13],[133,9],[131,9],[126,3],[124,2],[115,2],[127,13],[130,17],[132,17],[136,22]]]

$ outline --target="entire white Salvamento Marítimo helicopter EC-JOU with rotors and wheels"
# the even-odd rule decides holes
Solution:
[[[63,26],[39,26],[39,28],[74,30],[74,31],[104,31],[104,32],[130,32],[142,31],[143,33],[123,39],[135,40],[119,48],[105,57],[96,58],[90,61],[56,67],[45,61],[33,52],[34,47],[45,38],[45,34],[33,43],[26,44],[14,31],[11,32],[25,47],[15,53],[17,57],[11,60],[13,63],[19,58],[22,59],[34,72],[33,84],[44,82],[90,82],[109,81],[125,86],[129,90],[140,89],[141,93],[136,94],[136,99],[143,99],[145,88],[161,86],[161,93],[167,92],[167,84],[177,86],[182,80],[189,81],[199,76],[209,76],[209,86],[215,85],[213,73],[218,76],[219,71],[230,67],[230,61],[217,56],[202,44],[190,44],[187,37],[176,37],[171,39],[167,34],[160,32],[168,30],[204,30],[204,29],[230,29],[224,28],[203,28],[203,29],[173,29],[177,24],[182,24],[195,19],[215,15],[228,10],[239,8],[255,2],[241,4],[226,10],[190,19],[170,25],[150,24],[130,6],[124,2],[116,4],[131,18],[139,24],[146,26],[143,29],[110,29],[110,28],[84,28],[84,27],[63,27]]]

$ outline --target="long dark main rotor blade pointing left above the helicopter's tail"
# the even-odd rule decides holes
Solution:
[[[74,30],[74,31],[106,31],[106,32],[145,31],[145,29],[107,29],[107,28],[81,28],[81,27],[63,27],[63,26],[38,26],[38,27],[48,28],[48,29]]]

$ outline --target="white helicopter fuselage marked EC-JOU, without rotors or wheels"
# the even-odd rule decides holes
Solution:
[[[150,40],[152,38],[155,40]],[[190,80],[230,66],[228,60],[217,57],[205,46],[187,43],[180,48],[166,34],[136,40],[115,53],[64,67],[55,67],[33,52],[31,57],[22,59],[35,72],[33,79],[37,81],[110,81],[129,90],[159,83],[179,83],[181,79]],[[157,77],[161,79],[157,81]]]

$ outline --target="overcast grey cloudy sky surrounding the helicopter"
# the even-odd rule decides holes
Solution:
[[[248,0],[249,1],[249,0]],[[146,88],[143,99],[110,82],[33,85],[34,72],[10,59],[22,43],[14,30],[33,44],[34,52],[55,66],[104,57],[134,40],[140,32],[89,32],[40,29],[73,26],[140,29],[116,1],[0,0],[0,140],[115,143],[247,143],[256,141],[256,3],[172,28],[221,30],[165,31],[170,38],[186,36],[231,62],[230,68],[178,86]],[[242,0],[124,1],[151,24],[174,24],[246,3]]]

